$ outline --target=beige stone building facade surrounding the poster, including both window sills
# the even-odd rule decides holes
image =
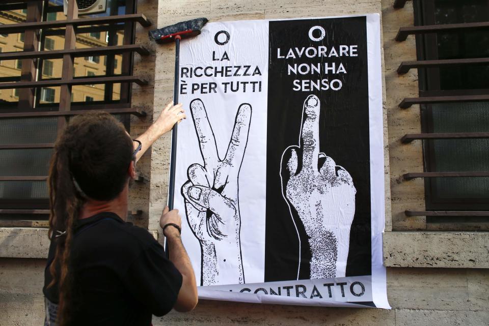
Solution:
[[[393,0],[139,0],[138,12],[158,27],[196,17],[210,21],[321,17],[379,13],[382,20],[386,158],[386,233],[384,261],[392,310],[318,308],[201,301],[187,314],[171,312],[153,318],[159,325],[331,325],[446,326],[489,325],[489,233],[444,231],[427,225],[425,217],[404,211],[424,210],[422,179],[404,181],[402,174],[422,171],[420,141],[402,144],[406,133],[420,132],[419,107],[401,110],[398,103],[418,96],[416,70],[398,76],[402,61],[416,60],[413,36],[394,37],[401,26],[413,25],[412,2],[394,9]],[[150,28],[154,28],[153,25]],[[132,106],[153,112],[173,96],[174,47],[156,46],[147,28],[137,27],[136,42],[151,50],[135,55],[134,75],[150,81],[133,86]],[[157,59],[157,60],[156,60]],[[154,108],[153,108],[154,104]],[[149,125],[133,117],[131,133]],[[138,163],[144,183],[135,184],[130,210],[142,210],[134,222],[157,236],[158,219],[166,204],[170,135],[159,139]],[[47,255],[45,229],[0,229],[0,325],[40,325],[43,322],[43,272]],[[160,239],[161,240],[161,239]]]

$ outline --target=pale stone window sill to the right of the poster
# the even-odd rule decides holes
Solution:
[[[385,232],[384,265],[489,268],[489,232]]]

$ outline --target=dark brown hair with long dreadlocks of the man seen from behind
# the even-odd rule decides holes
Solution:
[[[48,287],[58,283],[59,326],[69,323],[70,249],[79,211],[87,197],[112,200],[121,193],[129,179],[132,151],[124,126],[103,112],[72,118],[55,143],[48,177],[48,235],[57,247],[49,266],[52,281]]]

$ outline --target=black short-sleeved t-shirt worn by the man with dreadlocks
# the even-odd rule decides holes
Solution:
[[[104,212],[78,220],[74,234],[70,325],[149,326],[152,314],[162,316],[173,308],[182,276],[147,230]],[[53,237],[44,272],[51,311],[59,298],[56,284],[46,288],[56,243]]]

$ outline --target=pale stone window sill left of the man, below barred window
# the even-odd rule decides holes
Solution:
[[[0,257],[47,258],[47,228],[0,227]]]

